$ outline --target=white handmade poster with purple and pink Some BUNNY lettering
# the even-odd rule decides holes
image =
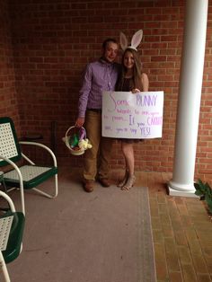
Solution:
[[[102,136],[146,139],[162,137],[163,92],[104,92]]]

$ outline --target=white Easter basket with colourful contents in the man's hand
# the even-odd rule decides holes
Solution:
[[[71,154],[81,155],[84,151],[91,148],[92,145],[86,138],[86,131],[83,127],[77,128],[75,126],[66,130],[66,136],[63,141]]]

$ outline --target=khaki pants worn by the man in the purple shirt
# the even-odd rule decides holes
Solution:
[[[84,153],[84,180],[108,179],[112,138],[102,137],[102,112],[87,110],[84,128],[93,145]]]

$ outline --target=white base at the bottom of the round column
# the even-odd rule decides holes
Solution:
[[[194,185],[179,185],[170,181],[167,184],[167,188],[170,196],[199,198],[195,195],[196,189]]]

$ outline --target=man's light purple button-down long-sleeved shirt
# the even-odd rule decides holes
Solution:
[[[86,109],[102,109],[102,92],[114,91],[119,74],[119,64],[102,58],[86,66],[80,89],[78,117],[84,118]]]

